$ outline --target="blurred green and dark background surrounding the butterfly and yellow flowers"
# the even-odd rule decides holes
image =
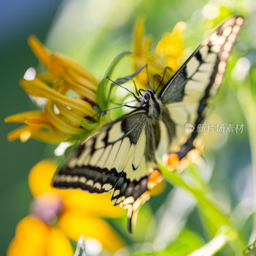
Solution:
[[[29,170],[41,159],[51,158],[56,148],[56,145],[36,140],[26,143],[7,140],[7,133],[19,125],[4,124],[4,117],[36,109],[19,86],[19,79],[29,67],[42,69],[28,47],[28,36],[35,34],[49,49],[66,54],[101,79],[118,53],[132,50],[133,26],[141,14],[153,45],[164,32],[172,32],[178,21],[185,21],[186,56],[228,16],[239,13],[246,18],[236,50],[228,62],[226,79],[206,120],[206,124],[244,124],[244,130],[242,133],[203,134],[205,161],[188,168],[184,176],[196,170],[214,204],[235,223],[244,245],[252,243],[256,175],[255,10],[254,0],[1,1],[0,255],[5,255],[17,223],[28,215],[32,200],[28,188]],[[122,68],[119,72],[127,75]],[[169,245],[179,248],[179,243],[186,246],[194,243],[199,247],[212,239],[212,234],[208,232],[211,224],[202,217],[196,202],[184,189],[167,184],[163,193],[152,197],[142,207],[135,235],[127,234],[125,217],[107,221],[133,254],[159,252],[167,250]],[[239,255],[239,250],[227,244],[218,255]],[[127,251],[119,252],[122,253]],[[176,254],[169,251],[168,255]]]

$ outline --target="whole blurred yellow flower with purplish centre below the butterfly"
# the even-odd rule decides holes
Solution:
[[[55,169],[48,160],[31,169],[28,182],[35,201],[31,214],[17,225],[7,256],[71,256],[74,253],[69,239],[77,241],[80,235],[85,240],[99,240],[108,252],[123,247],[116,231],[101,217],[117,218],[125,211],[112,205],[109,194],[52,188]]]

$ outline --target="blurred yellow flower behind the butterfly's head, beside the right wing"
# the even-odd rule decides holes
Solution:
[[[185,61],[183,58],[183,36],[185,28],[185,22],[178,22],[174,26],[172,33],[165,33],[156,45],[155,51],[152,51],[150,50],[151,38],[144,35],[144,19],[142,17],[138,18],[134,26],[134,50],[132,54],[135,70],[148,64],[149,79],[153,81],[154,76],[156,74],[163,75],[164,68],[168,66],[172,71],[169,69],[166,70],[163,84],[166,83]],[[140,72],[138,82],[148,87],[146,70]]]

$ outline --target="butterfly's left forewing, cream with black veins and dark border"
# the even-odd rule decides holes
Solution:
[[[53,187],[105,193],[116,185],[136,148],[146,119],[144,107],[107,124],[68,156]]]

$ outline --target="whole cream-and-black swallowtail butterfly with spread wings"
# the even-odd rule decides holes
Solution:
[[[112,190],[114,205],[128,209],[128,230],[132,232],[140,206],[150,197],[149,181],[161,179],[156,171],[159,147],[168,152],[180,146],[179,159],[195,148],[197,127],[204,120],[209,97],[221,83],[243,21],[232,16],[213,30],[159,93],[153,88],[140,89],[136,96],[139,106],[73,149],[53,186],[96,194]],[[195,127],[190,134],[185,132],[188,123]],[[184,137],[186,142],[181,145]]]

